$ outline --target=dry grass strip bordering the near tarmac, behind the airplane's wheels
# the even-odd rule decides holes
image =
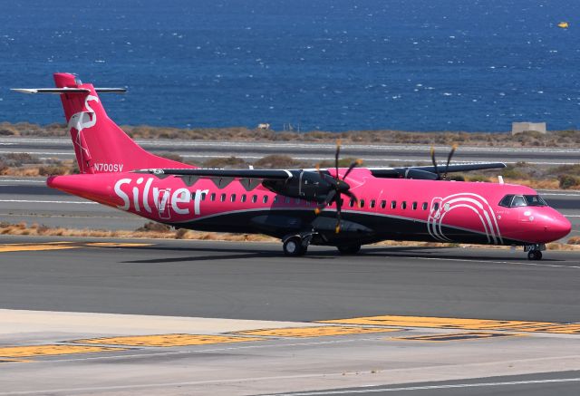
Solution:
[[[279,242],[275,237],[267,237],[261,234],[231,234],[217,232],[193,231],[179,228],[172,229],[160,223],[148,222],[137,230],[102,230],[102,229],[76,229],[63,227],[46,227],[32,224],[30,227],[25,222],[12,224],[0,223],[0,235],[33,236],[33,237],[99,237],[99,238],[121,238],[121,239],[189,239],[189,240],[211,240],[230,242]],[[442,244],[438,242],[414,242],[414,241],[382,241],[372,246],[420,246],[420,247],[462,247],[481,248],[483,245],[470,244]],[[492,249],[508,249],[510,246],[485,246]],[[546,245],[547,250],[580,250],[580,237],[571,237],[567,243],[550,243]]]

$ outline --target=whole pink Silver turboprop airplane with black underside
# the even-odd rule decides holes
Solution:
[[[503,163],[329,169],[203,169],[140,148],[107,116],[100,92],[73,74],[55,73],[73,139],[78,175],[53,176],[51,188],[173,227],[278,237],[288,256],[310,245],[355,254],[385,239],[524,246],[539,260],[570,222],[532,188],[447,180],[449,172]]]

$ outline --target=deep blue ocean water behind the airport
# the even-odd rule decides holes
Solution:
[[[0,121],[63,121],[8,88],[75,72],[123,124],[578,128],[579,39],[565,0],[0,0]]]

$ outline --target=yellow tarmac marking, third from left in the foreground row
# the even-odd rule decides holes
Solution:
[[[325,337],[333,335],[389,333],[401,329],[385,327],[352,327],[352,326],[316,326],[316,327],[285,327],[281,329],[261,329],[236,332],[235,334],[261,335],[273,337]]]

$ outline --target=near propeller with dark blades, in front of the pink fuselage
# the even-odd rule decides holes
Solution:
[[[344,194],[348,198],[353,199],[354,202],[358,203],[358,199],[350,190],[351,186],[344,181],[348,177],[348,175],[353,171],[354,168],[360,166],[362,164],[361,159],[356,159],[353,163],[346,169],[344,172],[343,179],[340,179],[338,174],[338,163],[341,153],[341,140],[336,140],[336,151],[334,152],[334,177],[330,176],[327,173],[323,173],[320,170],[320,165],[316,165],[316,170],[318,174],[324,181],[328,183],[329,190],[326,194],[326,198],[324,198],[324,202],[320,203],[317,208],[314,209],[314,213],[319,215],[324,208],[331,205],[333,202],[336,202],[336,227],[334,227],[334,232],[338,234],[341,231],[341,220],[342,220],[342,211],[343,211],[343,199],[341,196]]]

